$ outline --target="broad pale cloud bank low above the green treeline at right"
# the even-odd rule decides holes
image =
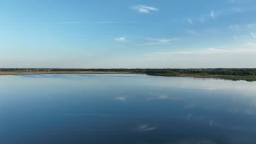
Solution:
[[[255,68],[256,43],[231,48],[149,52],[138,65],[154,68]]]

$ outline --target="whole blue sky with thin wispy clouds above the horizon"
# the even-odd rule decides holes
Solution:
[[[256,68],[255,0],[0,0],[0,68]]]

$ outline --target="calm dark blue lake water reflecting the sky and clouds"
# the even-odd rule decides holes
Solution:
[[[0,143],[256,143],[256,83],[0,76]]]

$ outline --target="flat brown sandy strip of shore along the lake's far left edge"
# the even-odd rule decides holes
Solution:
[[[131,74],[108,71],[0,71],[0,75],[45,75],[45,74]]]

